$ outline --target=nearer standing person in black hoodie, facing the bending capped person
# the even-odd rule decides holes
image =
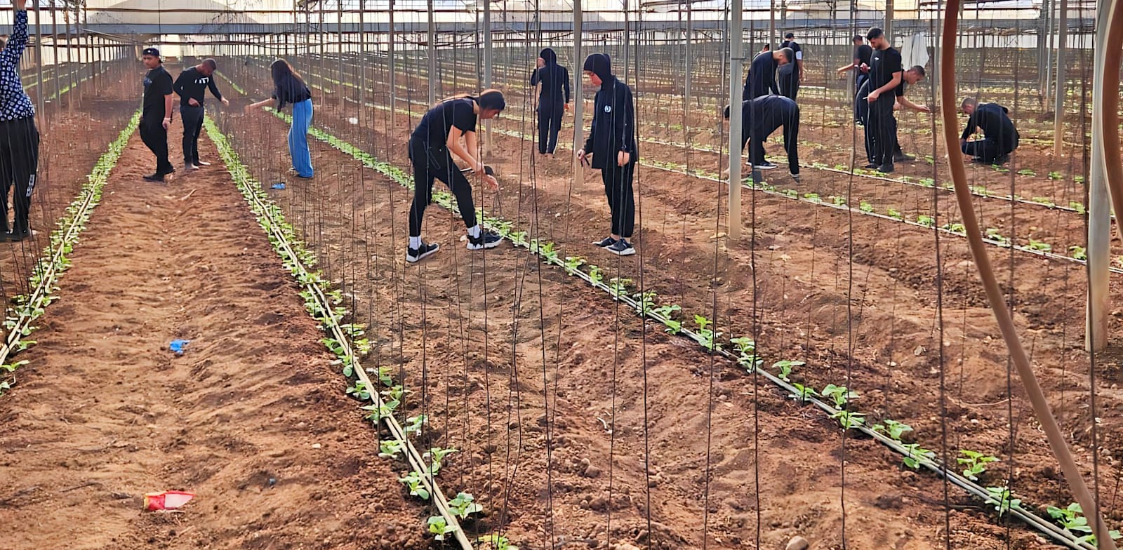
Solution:
[[[593,54],[582,66],[593,86],[597,88],[593,107],[593,126],[585,146],[577,152],[583,164],[591,161],[601,171],[604,194],[612,212],[612,235],[594,245],[618,256],[636,254],[629,239],[636,226],[636,199],[632,177],[639,152],[636,148],[636,110],[631,88],[612,74],[612,63],[604,54]]]

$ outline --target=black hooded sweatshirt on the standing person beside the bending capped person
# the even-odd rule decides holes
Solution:
[[[606,168],[617,165],[617,153],[631,155],[629,164],[636,164],[636,110],[631,88],[612,75],[609,56],[593,54],[585,59],[582,71],[592,71],[601,79],[593,107],[593,127],[585,140],[585,153],[593,154],[593,167]]]

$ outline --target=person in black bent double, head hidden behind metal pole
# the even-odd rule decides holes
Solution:
[[[729,120],[729,107],[725,107]],[[741,103],[741,148],[749,145],[749,162],[755,169],[772,169],[776,165],[765,163],[765,141],[777,128],[784,127],[784,150],[787,152],[787,167],[792,178],[800,181],[800,106],[784,95],[761,95]],[[728,175],[728,174],[727,174]]]

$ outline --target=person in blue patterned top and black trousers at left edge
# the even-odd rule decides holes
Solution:
[[[19,58],[27,47],[27,0],[13,0],[11,36],[0,52],[0,240],[24,240],[31,236],[28,213],[31,191],[39,168],[39,130],[35,107],[19,80]],[[8,230],[8,194],[12,183],[13,226]]]

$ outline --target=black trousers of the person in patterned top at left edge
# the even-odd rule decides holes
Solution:
[[[12,218],[15,233],[26,233],[31,208],[31,191],[35,190],[35,174],[39,169],[39,130],[34,118],[21,118],[0,122],[0,230],[8,231],[8,194],[12,184]]]

